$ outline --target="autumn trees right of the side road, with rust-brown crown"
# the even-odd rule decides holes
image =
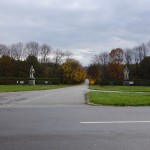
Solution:
[[[134,48],[116,48],[95,55],[87,74],[97,83],[119,82],[124,78],[125,66],[129,69],[130,80],[150,80],[150,41]]]

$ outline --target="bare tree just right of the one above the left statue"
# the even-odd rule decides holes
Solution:
[[[48,56],[50,55],[50,53],[52,52],[52,48],[47,45],[47,44],[43,44],[41,46],[41,60],[43,63],[47,63],[48,62]],[[50,59],[50,58],[49,58]]]

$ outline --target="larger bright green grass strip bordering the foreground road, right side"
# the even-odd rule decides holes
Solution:
[[[90,92],[88,97],[96,105],[150,106],[150,93]]]

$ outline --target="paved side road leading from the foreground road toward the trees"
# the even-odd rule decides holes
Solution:
[[[82,105],[87,85],[33,92],[0,93],[1,107],[44,107]]]

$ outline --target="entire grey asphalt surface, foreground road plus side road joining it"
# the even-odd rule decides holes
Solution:
[[[149,107],[88,106],[86,92],[0,93],[0,150],[149,150]]]

